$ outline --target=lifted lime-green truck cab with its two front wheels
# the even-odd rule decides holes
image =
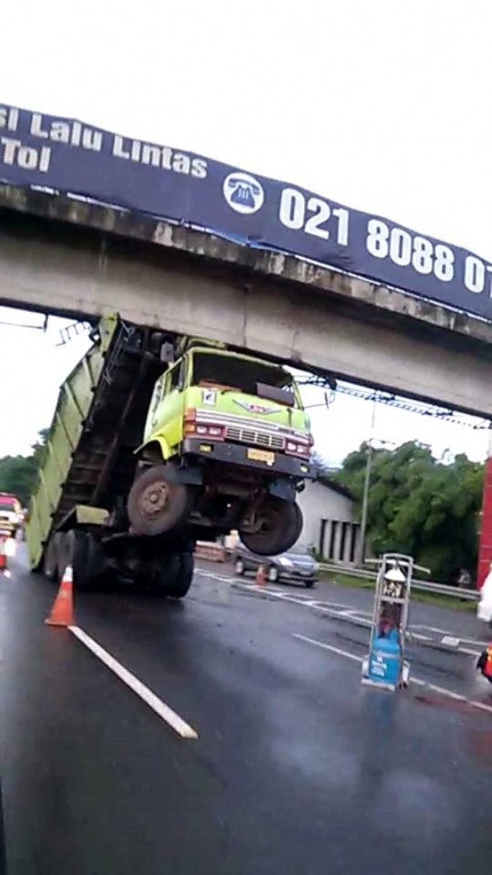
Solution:
[[[157,534],[186,521],[201,536],[237,528],[255,552],[282,552],[302,529],[295,497],[311,475],[312,445],[288,370],[191,342],[154,387],[128,497],[132,526]]]

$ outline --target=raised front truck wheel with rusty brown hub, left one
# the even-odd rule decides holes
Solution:
[[[162,535],[181,526],[191,507],[190,488],[170,483],[165,465],[153,465],[138,476],[128,495],[128,517],[136,535]]]

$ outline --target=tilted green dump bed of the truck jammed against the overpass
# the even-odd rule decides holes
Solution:
[[[76,505],[113,509],[133,481],[138,445],[159,369],[161,335],[101,320],[98,338],[62,384],[26,525],[32,568]]]

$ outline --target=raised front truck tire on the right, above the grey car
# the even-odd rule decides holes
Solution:
[[[261,527],[257,532],[241,532],[247,550],[258,556],[285,553],[302,532],[302,513],[294,501],[284,501],[271,495],[261,511]]]

